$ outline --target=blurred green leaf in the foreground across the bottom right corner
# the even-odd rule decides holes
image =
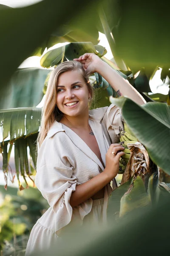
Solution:
[[[56,256],[56,251],[58,255],[71,256],[103,256],[106,252],[109,256],[160,256],[162,250],[163,254],[169,255],[169,216],[167,199],[153,209],[140,208],[119,221],[109,221],[107,226],[91,223],[72,229],[64,241],[61,239],[59,244],[43,252],[34,252],[32,256]]]

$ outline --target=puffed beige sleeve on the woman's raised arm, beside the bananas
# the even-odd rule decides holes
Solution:
[[[111,138],[111,142],[117,143],[119,141],[119,128],[122,128],[124,130],[121,109],[118,108],[116,105],[111,104],[105,112],[102,121],[105,124],[105,127]]]

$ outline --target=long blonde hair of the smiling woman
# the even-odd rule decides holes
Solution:
[[[62,113],[59,111],[56,105],[57,82],[58,82],[59,76],[62,73],[71,71],[71,70],[79,70],[82,73],[82,76],[84,77],[88,90],[91,94],[91,101],[89,103],[89,107],[91,105],[91,102],[94,96],[94,89],[89,82],[88,74],[85,72],[82,64],[78,61],[64,61],[63,63],[59,64],[51,72],[49,81],[48,81],[47,92],[45,95],[45,102],[42,108],[40,132],[37,138],[39,147],[41,146],[43,140],[47,136],[47,133],[51,125],[54,123],[55,120],[59,121],[59,119],[62,116]]]

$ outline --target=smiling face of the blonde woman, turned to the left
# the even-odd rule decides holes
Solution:
[[[90,97],[87,84],[79,70],[62,73],[57,85],[57,107],[67,116],[78,116],[88,111]]]

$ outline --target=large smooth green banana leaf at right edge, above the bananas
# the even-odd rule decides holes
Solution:
[[[170,174],[170,106],[160,102],[138,105],[127,97],[110,101],[122,108],[123,118],[133,134],[144,144],[150,158]]]

